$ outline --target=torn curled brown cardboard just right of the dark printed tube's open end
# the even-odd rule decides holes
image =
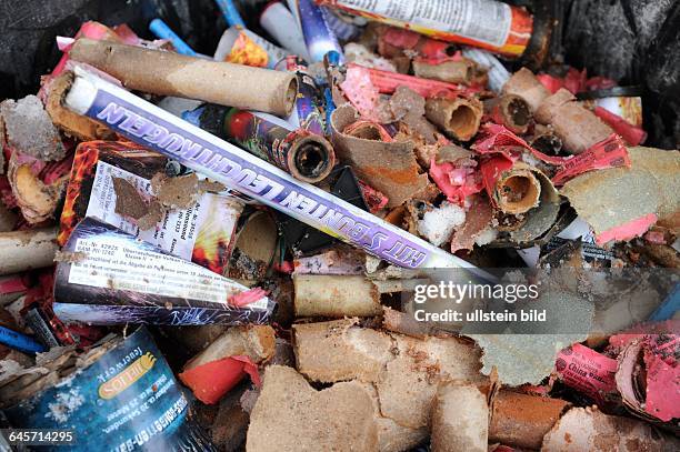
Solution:
[[[332,142],[338,157],[351,164],[360,179],[389,193],[388,208],[400,205],[426,190],[428,175],[419,172],[413,143],[384,142],[346,134],[346,128],[357,119],[356,110],[349,106],[333,111]]]

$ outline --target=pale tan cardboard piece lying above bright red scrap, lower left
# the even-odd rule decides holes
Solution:
[[[253,362],[263,362],[273,356],[274,346],[274,331],[269,325],[233,327],[187,362],[183,370],[229,356],[248,356]]]

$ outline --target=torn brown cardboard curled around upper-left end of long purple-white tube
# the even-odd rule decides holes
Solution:
[[[62,107],[63,98],[69,92],[72,83],[73,72],[70,71],[63,72],[50,82],[44,109],[54,125],[63,130],[68,135],[76,137],[82,141],[114,140],[116,133],[108,127]]]

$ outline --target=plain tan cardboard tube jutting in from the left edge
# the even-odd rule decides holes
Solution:
[[[50,267],[57,250],[54,228],[0,233],[0,275]]]

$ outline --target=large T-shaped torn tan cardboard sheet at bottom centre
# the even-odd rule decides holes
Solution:
[[[418,340],[356,323],[347,319],[293,325],[298,369],[324,383],[372,383],[382,415],[399,425],[428,425],[439,383],[487,381],[479,373],[479,349],[470,343],[454,338]]]

